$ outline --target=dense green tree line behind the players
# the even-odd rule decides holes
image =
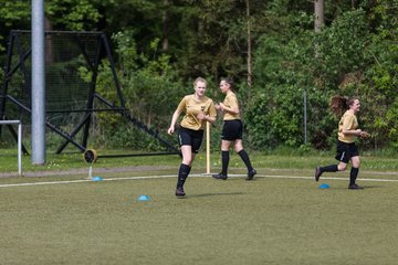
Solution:
[[[2,64],[9,31],[31,28],[30,4],[0,3]],[[398,0],[45,1],[46,30],[109,36],[127,107],[149,127],[167,128],[197,76],[214,100],[219,80],[233,77],[253,149],[333,147],[334,95],[359,96],[364,145],[397,148],[397,14]],[[97,86],[109,80],[103,65]],[[101,126],[104,145],[153,146],[118,120]]]

